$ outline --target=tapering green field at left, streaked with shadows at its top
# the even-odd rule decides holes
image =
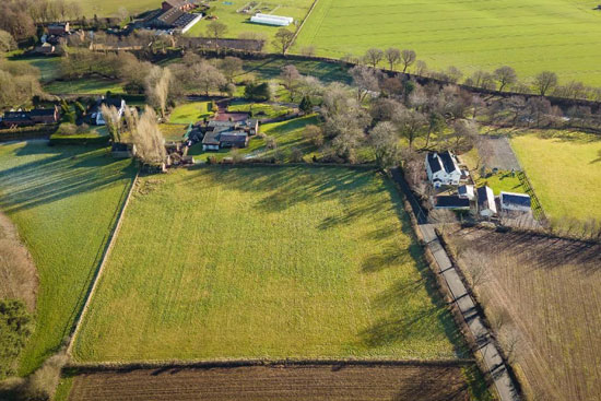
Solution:
[[[21,374],[69,335],[133,175],[131,161],[117,162],[106,149],[0,145],[0,210],[16,224],[39,274],[36,329]]]

